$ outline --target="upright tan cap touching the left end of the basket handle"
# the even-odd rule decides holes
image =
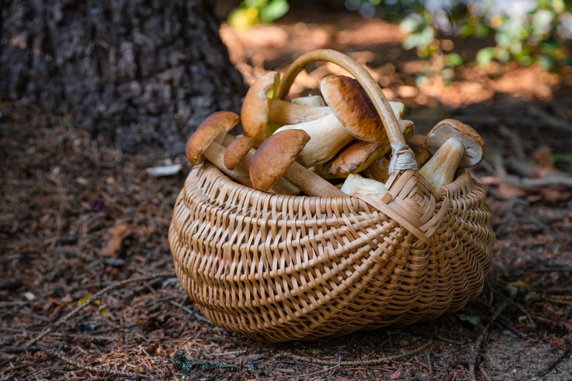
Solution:
[[[243,132],[254,140],[255,147],[260,146],[266,138],[268,113],[279,82],[280,73],[269,71],[256,79],[244,97],[240,110]]]

